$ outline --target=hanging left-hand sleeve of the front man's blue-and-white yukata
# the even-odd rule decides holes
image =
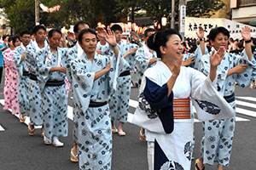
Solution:
[[[73,79],[73,97],[75,99],[74,107],[79,107],[85,112],[90,104],[95,72],[87,71],[86,62],[81,59],[71,61],[70,66]]]

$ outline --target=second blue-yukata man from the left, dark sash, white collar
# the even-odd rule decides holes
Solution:
[[[28,124],[28,134],[35,134],[34,126],[43,126],[43,111],[41,109],[41,94],[38,86],[38,71],[37,61],[38,51],[41,48],[47,46],[46,39],[46,28],[44,26],[35,26],[32,30],[32,34],[35,37],[35,41],[31,42],[26,46],[25,55],[25,68],[27,68],[29,76],[29,116],[30,123]],[[42,127],[41,136],[44,136],[44,127]]]

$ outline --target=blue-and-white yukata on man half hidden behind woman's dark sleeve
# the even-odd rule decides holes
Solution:
[[[146,43],[143,43],[143,46],[137,49],[136,55],[135,55],[135,71],[136,76],[138,79],[138,85],[140,86],[143,79],[144,72],[149,68],[155,65],[148,65],[150,59],[157,58],[157,55],[154,51],[152,54],[148,48],[148,45]]]

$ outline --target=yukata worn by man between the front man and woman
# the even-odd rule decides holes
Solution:
[[[131,48],[138,48],[137,44],[130,42],[120,42],[119,51],[122,55],[127,53]],[[105,54],[108,54],[105,51]],[[108,54],[109,55],[109,54]],[[124,66],[120,68],[121,72],[117,79],[117,89],[113,92],[109,99],[109,108],[111,112],[111,120],[119,122],[127,122],[129,100],[131,94],[131,73],[134,70],[135,54],[126,56]]]

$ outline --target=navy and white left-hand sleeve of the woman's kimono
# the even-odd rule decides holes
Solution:
[[[147,74],[148,75],[148,74]],[[172,133],[173,93],[168,96],[167,84],[160,86],[154,75],[143,77],[139,94],[139,105],[132,122],[154,133]]]

